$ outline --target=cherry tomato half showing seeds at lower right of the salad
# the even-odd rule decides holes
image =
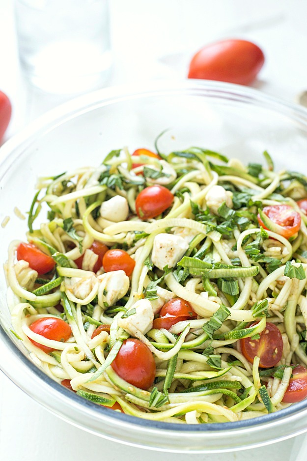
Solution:
[[[250,326],[256,325],[252,323]],[[275,367],[282,355],[282,337],[274,323],[268,322],[265,329],[260,333],[260,339],[243,338],[240,340],[241,350],[244,357],[251,363],[257,355],[260,358],[259,367]]]

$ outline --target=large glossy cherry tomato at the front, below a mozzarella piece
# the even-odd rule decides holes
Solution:
[[[118,376],[140,389],[148,389],[156,375],[156,363],[151,351],[134,338],[123,342],[111,366]]]

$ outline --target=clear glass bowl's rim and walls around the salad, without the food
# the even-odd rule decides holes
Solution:
[[[168,152],[191,145],[307,173],[307,111],[246,87],[202,81],[155,81],[112,87],[74,99],[40,117],[0,149],[0,260],[11,240],[24,238],[26,214],[38,176],[99,165],[125,145]],[[307,431],[307,401],[235,423],[177,425],[117,413],[75,395],[31,362],[10,331],[6,283],[0,271],[0,367],[17,386],[63,420],[88,432],[139,447],[189,453],[233,451]]]

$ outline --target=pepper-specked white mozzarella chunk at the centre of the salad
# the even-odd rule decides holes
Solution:
[[[178,235],[161,233],[155,236],[151,253],[151,260],[156,267],[163,269],[175,267],[183,257],[189,244]]]

